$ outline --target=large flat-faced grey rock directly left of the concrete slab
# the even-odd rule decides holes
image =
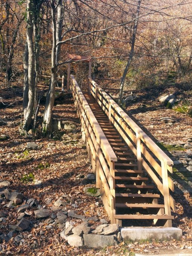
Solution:
[[[114,236],[84,234],[84,244],[90,248],[101,249],[110,245],[116,245]]]

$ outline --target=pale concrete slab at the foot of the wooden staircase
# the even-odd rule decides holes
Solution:
[[[127,227],[121,229],[124,242],[139,240],[180,240],[182,230],[175,227]]]

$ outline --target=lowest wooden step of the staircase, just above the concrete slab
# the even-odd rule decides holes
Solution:
[[[174,216],[171,215],[135,215],[135,214],[116,214],[114,215],[115,219],[174,219]]]

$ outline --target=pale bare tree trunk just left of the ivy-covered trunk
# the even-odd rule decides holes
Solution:
[[[33,23],[32,23],[32,6],[31,0],[27,0],[27,45],[28,45],[28,104],[24,108],[24,125],[23,129],[29,131],[32,114],[34,109],[34,97],[35,97],[35,81],[34,81],[34,68],[35,68],[35,54],[33,45]]]

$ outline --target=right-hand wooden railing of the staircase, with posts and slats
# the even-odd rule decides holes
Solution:
[[[173,161],[162,151],[149,136],[119,107],[119,105],[91,78],[88,91],[107,114],[120,136],[137,157],[138,169],[148,173],[164,197],[165,214],[175,210],[175,201],[169,193],[174,191],[174,184],[168,175],[172,173]]]

